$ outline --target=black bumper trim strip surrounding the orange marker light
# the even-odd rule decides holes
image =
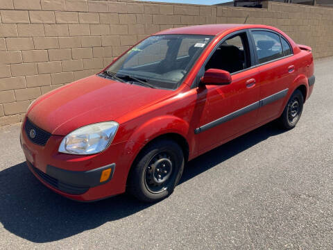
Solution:
[[[104,167],[99,167],[96,169],[88,171],[71,171],[66,169],[60,169],[58,167],[53,167],[51,165],[46,166],[46,174],[49,176],[62,181],[63,183],[69,183],[71,185],[78,185],[84,187],[96,187],[97,185],[102,185],[108,183],[112,179],[115,163],[106,165]],[[100,183],[101,174],[103,170],[111,168],[111,174],[107,181]]]

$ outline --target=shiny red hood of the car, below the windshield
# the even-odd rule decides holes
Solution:
[[[53,135],[67,135],[87,124],[117,122],[118,117],[150,106],[172,93],[94,75],[39,97],[27,116]]]

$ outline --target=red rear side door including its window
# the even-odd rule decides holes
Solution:
[[[264,122],[280,114],[296,69],[291,46],[282,35],[267,29],[252,29],[250,33],[259,70],[258,122]]]

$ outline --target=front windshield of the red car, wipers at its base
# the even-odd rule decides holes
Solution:
[[[211,40],[210,35],[153,35],[105,73],[117,81],[175,90]]]

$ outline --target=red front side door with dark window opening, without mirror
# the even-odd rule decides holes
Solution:
[[[205,96],[205,107],[196,128],[199,153],[223,144],[232,136],[257,124],[259,108],[258,69],[252,65],[246,31],[222,40],[205,65],[232,74],[229,85],[207,85],[198,88]],[[249,68],[249,69],[248,69]]]

